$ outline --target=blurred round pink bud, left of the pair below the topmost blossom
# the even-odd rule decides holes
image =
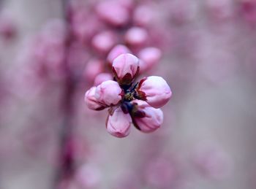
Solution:
[[[99,53],[108,53],[116,44],[116,37],[111,31],[103,31],[94,36],[91,44]]]

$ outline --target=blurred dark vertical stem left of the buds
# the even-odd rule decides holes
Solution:
[[[64,47],[64,62],[63,69],[65,73],[64,77],[64,95],[61,99],[61,112],[63,113],[63,123],[60,130],[60,141],[59,141],[59,168],[56,173],[55,186],[59,185],[60,182],[70,180],[73,177],[75,171],[74,165],[74,144],[72,141],[72,97],[75,92],[75,78],[72,75],[71,70],[68,66],[68,55],[69,47],[72,42],[72,34],[69,28],[69,12],[67,9],[68,0],[63,0],[64,19],[66,23],[66,41]],[[56,187],[55,187],[56,188]]]

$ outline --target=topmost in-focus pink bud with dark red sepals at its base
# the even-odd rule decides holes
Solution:
[[[121,85],[129,85],[139,72],[139,60],[135,55],[122,54],[113,61],[113,74]]]

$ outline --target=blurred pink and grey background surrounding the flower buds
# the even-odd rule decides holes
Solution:
[[[173,96],[161,128],[132,128],[124,139],[106,131],[106,110],[93,112],[83,101],[93,85],[83,70],[91,57],[104,57],[90,46],[106,29],[94,31],[99,2],[1,0],[0,188],[256,188],[256,1],[134,1],[133,11],[149,9],[151,45],[162,50],[146,75],[164,77]],[[80,14],[83,39],[65,50],[69,9]],[[42,31],[45,38],[36,39]],[[71,50],[66,66],[79,79],[67,92],[59,56]],[[47,74],[45,61],[52,63]],[[61,162],[65,132],[70,175]]]

